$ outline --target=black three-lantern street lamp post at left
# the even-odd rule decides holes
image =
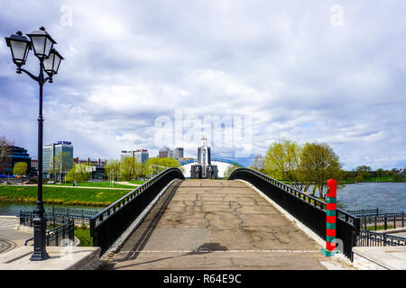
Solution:
[[[30,76],[40,86],[39,116],[38,116],[38,198],[35,208],[35,217],[33,222],[33,240],[34,248],[32,261],[42,261],[50,258],[45,246],[45,231],[47,219],[44,217],[42,202],[42,139],[43,139],[43,118],[42,118],[42,86],[46,83],[52,83],[52,76],[58,73],[60,61],[63,59],[60,53],[53,49],[56,41],[41,27],[38,31],[32,31],[27,34],[28,40],[21,31],[17,31],[10,37],[5,37],[7,47],[10,47],[13,62],[17,66],[16,73],[24,72]],[[40,74],[32,75],[29,71],[23,69],[23,65],[28,56],[28,52],[33,49],[35,56],[40,60]],[[44,77],[44,72],[48,75]]]

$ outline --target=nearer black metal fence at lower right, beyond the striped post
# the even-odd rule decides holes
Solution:
[[[360,247],[406,246],[406,238],[361,229],[356,246]]]

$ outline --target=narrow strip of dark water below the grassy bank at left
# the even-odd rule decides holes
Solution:
[[[0,201],[0,215],[16,216],[20,211],[33,211],[36,204],[32,202],[3,202]],[[45,211],[49,211],[54,206],[55,208],[71,209],[71,210],[90,210],[102,211],[101,206],[85,206],[85,205],[62,205],[62,204],[43,204]]]

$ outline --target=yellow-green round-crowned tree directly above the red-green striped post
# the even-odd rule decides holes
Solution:
[[[314,185],[313,194],[318,190],[322,199],[326,199],[328,193],[328,179],[334,178],[340,184],[343,177],[338,156],[328,144],[306,143],[301,151],[300,170]]]

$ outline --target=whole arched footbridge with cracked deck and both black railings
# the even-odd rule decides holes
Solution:
[[[185,180],[169,168],[100,211],[90,229],[106,269],[326,269],[326,205],[247,168],[228,180]],[[359,229],[359,218],[337,209],[348,261]]]

